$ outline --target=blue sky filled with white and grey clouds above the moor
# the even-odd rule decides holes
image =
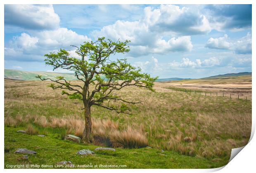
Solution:
[[[52,71],[44,55],[104,36],[159,78],[251,72],[251,5],[5,5],[5,69]],[[56,72],[67,72],[62,69]]]

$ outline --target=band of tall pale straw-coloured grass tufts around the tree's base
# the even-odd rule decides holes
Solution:
[[[42,127],[65,128],[67,134],[72,133],[78,137],[83,137],[84,121],[78,116],[49,117],[49,120],[45,116],[17,116],[15,119],[12,116],[5,117],[5,125],[9,127],[16,127],[21,123],[27,122]],[[109,119],[100,120],[92,118],[92,124],[92,135],[95,145],[123,148],[140,148],[148,145],[145,134],[140,130],[128,127],[126,130],[119,131],[118,123]],[[38,130],[32,124],[28,124],[26,133],[37,135]]]

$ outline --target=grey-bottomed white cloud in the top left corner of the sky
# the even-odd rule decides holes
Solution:
[[[59,28],[52,5],[5,5],[5,24],[29,30]]]

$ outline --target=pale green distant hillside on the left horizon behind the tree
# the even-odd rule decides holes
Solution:
[[[5,69],[5,78],[19,79],[25,81],[39,80],[35,76],[42,75],[44,78],[54,78],[56,76],[64,76],[66,80],[77,80],[74,73],[55,73],[47,71],[20,71]]]

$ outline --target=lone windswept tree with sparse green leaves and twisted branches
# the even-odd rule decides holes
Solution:
[[[130,41],[112,41],[104,37],[98,38],[95,42],[84,42],[80,47],[76,47],[76,54],[81,58],[71,57],[69,52],[60,49],[58,52],[46,54],[45,64],[53,66],[53,70],[61,68],[74,71],[76,78],[82,81],[82,85],[73,84],[63,76],[56,79],[43,78],[42,81],[50,80],[55,82],[49,86],[52,89],[62,89],[62,95],[68,95],[70,99],[83,101],[85,128],[83,131],[83,141],[89,142],[92,131],[91,111],[92,105],[114,110],[117,113],[130,114],[127,104],[137,104],[119,97],[115,91],[127,86],[137,86],[154,91],[153,85],[156,78],[150,77],[147,73],[141,73],[140,68],[136,68],[127,62],[127,59],[117,59],[112,61],[110,55],[116,53],[129,52],[127,43]],[[68,92],[67,92],[68,91]],[[107,104],[104,104],[108,101]],[[121,102],[121,104],[113,104]]]

